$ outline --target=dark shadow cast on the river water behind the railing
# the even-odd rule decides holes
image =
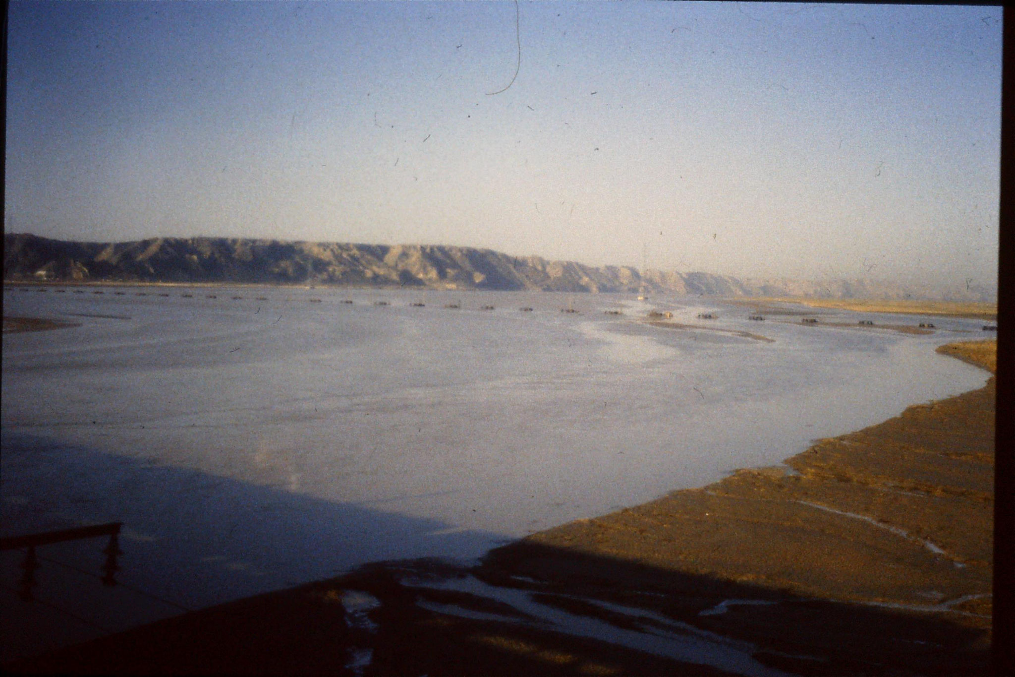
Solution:
[[[0,535],[124,525],[115,586],[103,585],[106,543],[94,539],[37,549],[33,601],[18,597],[25,550],[0,553],[3,661],[290,589],[363,562],[437,554],[471,560],[506,542],[11,426],[0,441]]]

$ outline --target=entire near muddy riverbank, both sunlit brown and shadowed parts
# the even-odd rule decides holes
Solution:
[[[996,342],[940,351],[993,370]],[[742,470],[534,534],[470,569],[369,565],[4,667],[987,674],[994,410],[992,378],[979,390],[818,441],[785,466]],[[520,594],[547,615],[513,606]],[[599,627],[609,640],[596,635]],[[688,638],[714,648],[681,650]]]

